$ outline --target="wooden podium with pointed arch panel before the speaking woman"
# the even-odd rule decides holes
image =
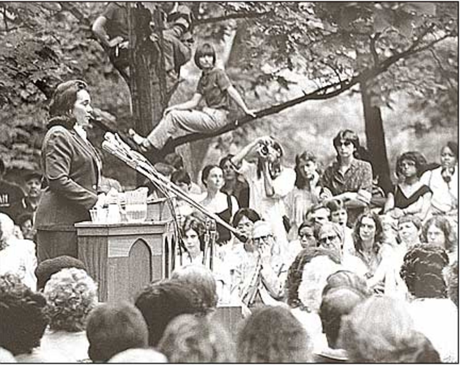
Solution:
[[[172,221],[76,223],[78,258],[98,283],[99,302],[128,300],[153,280],[168,278],[175,238]]]

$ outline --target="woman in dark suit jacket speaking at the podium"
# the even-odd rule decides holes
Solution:
[[[91,112],[86,82],[70,80],[57,86],[41,147],[45,190],[35,215],[39,262],[77,257],[74,224],[89,221],[89,210],[104,201],[104,194],[98,196],[102,163],[86,138]]]

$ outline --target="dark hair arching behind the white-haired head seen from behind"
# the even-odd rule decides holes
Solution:
[[[303,307],[299,299],[299,286],[302,282],[304,266],[317,256],[327,256],[335,263],[340,263],[340,257],[338,257],[334,251],[322,247],[307,247],[300,251],[289,267],[288,277],[286,279],[287,302],[291,308]]]

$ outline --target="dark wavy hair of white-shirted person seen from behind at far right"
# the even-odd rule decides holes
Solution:
[[[449,264],[446,251],[437,245],[420,244],[404,255],[400,275],[409,293],[417,298],[446,298],[443,269]]]

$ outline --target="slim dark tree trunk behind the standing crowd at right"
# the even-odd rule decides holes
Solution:
[[[360,83],[361,100],[364,109],[364,124],[367,147],[374,170],[374,176],[379,176],[379,186],[388,193],[391,191],[390,165],[386,154],[385,132],[379,107],[371,104],[371,97],[365,82]]]

